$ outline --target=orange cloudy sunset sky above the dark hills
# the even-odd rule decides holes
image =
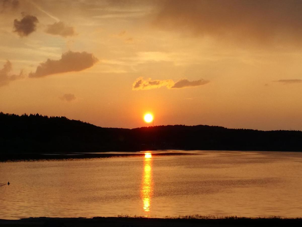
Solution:
[[[302,130],[302,1],[0,0],[0,111]]]

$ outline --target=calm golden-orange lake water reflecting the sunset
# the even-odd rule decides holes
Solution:
[[[302,216],[302,153],[191,153],[0,163],[0,218]]]

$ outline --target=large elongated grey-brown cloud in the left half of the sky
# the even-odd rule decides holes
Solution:
[[[31,72],[29,77],[44,77],[57,73],[82,71],[92,67],[98,59],[87,52],[67,51],[62,54],[61,59],[51,60],[40,63],[36,72]]]

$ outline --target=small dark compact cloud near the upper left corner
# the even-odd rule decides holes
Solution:
[[[24,16],[21,21],[14,20],[14,32],[17,32],[21,37],[28,36],[32,32],[36,31],[36,24],[38,19],[32,15]]]

